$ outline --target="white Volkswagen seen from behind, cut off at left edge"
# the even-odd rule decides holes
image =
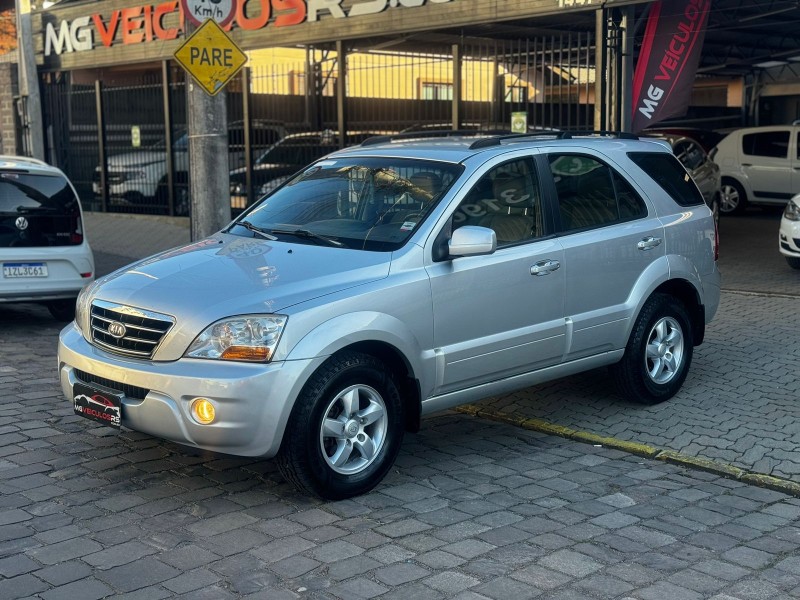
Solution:
[[[67,177],[41,161],[0,156],[0,304],[40,302],[59,321],[94,280],[83,213]]]

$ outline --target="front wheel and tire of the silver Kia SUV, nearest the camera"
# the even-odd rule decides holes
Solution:
[[[344,352],[326,362],[295,403],[277,456],[281,474],[328,500],[368,492],[403,440],[403,405],[378,359]]]

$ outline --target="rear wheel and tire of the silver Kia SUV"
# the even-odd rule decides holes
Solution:
[[[683,385],[692,363],[694,338],[683,303],[654,294],[639,313],[625,354],[611,375],[625,399],[658,404]]]

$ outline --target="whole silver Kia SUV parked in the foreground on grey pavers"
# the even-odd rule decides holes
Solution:
[[[59,341],[76,412],[277,456],[345,498],[434,411],[601,366],[630,400],[678,392],[720,279],[711,211],[663,144],[411,135],[91,286]]]

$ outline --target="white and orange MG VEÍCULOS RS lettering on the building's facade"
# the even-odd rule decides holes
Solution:
[[[453,0],[359,0],[347,7],[342,6],[342,1],[240,0],[235,3],[236,9],[226,28],[252,31],[266,27],[289,27],[327,18],[348,19],[378,14],[387,9],[409,9]],[[169,19],[169,16],[173,18]],[[174,26],[166,25],[167,22]],[[48,21],[44,30],[44,55],[174,40],[182,33],[183,22],[183,9],[178,0],[118,8],[57,23]]]

